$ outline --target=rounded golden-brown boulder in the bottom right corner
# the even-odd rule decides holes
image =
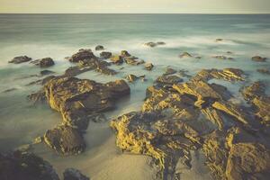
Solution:
[[[227,179],[268,179],[270,151],[259,143],[238,143],[229,151]]]

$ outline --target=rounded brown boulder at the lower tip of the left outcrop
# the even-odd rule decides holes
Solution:
[[[47,130],[44,141],[58,154],[74,155],[85,150],[85,141],[81,133],[66,125],[60,125],[53,130]]]

